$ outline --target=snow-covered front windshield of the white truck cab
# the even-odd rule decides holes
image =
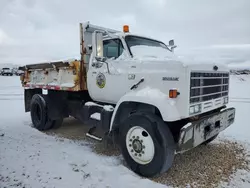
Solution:
[[[156,40],[132,35],[126,36],[125,40],[133,57],[167,58],[173,55],[164,43]]]

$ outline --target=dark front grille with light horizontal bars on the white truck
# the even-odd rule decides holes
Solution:
[[[208,101],[228,95],[229,73],[192,72],[190,103]]]

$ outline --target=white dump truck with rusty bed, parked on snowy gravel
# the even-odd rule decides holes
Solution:
[[[130,169],[152,177],[176,153],[211,142],[234,122],[226,66],[187,62],[173,53],[174,40],[135,35],[128,25],[116,31],[81,23],[80,44],[79,59],[20,67],[36,129],[79,119],[92,125],[87,136],[111,138]]]

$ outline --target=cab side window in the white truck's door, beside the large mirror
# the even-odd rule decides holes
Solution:
[[[123,52],[120,39],[110,39],[103,41],[103,56],[107,58],[118,58]]]

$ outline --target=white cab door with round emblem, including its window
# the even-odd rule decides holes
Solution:
[[[128,64],[117,58],[124,51],[120,39],[103,41],[103,57],[106,63],[93,62],[89,65],[88,90],[92,99],[115,104],[129,90]]]

